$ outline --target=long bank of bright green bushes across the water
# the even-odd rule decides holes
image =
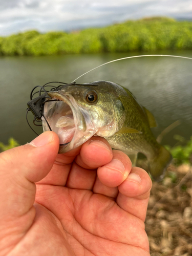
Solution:
[[[0,37],[0,55],[52,55],[192,49],[192,22],[166,17],[127,21],[82,31],[28,31]]]

